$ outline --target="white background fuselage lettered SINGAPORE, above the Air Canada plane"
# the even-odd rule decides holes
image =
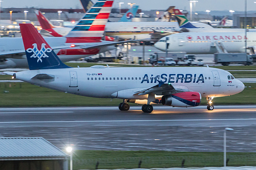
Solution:
[[[205,23],[191,23],[196,27],[214,29]],[[153,30],[172,32],[178,29],[178,22],[107,22],[105,33],[106,36],[117,36],[119,39],[151,40],[150,33],[153,33]]]

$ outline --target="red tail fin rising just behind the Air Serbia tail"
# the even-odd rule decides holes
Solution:
[[[49,32],[50,35],[54,36],[54,37],[62,37],[62,35],[58,34],[55,30],[54,30],[54,26],[52,25],[52,23],[38,10],[34,10],[36,17],[42,27],[42,30],[46,30],[47,32]]]

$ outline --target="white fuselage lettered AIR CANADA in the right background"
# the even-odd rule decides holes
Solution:
[[[228,53],[245,52],[245,39],[247,47],[256,46],[256,32],[216,32],[216,33],[180,33],[166,36],[169,52],[187,52],[188,54],[214,54],[217,53],[216,43],[222,43]],[[166,51],[166,37],[161,38],[155,47]]]

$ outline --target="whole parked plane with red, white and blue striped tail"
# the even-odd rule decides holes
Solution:
[[[61,61],[72,61],[116,48],[117,42],[101,40],[112,6],[113,1],[99,0],[67,36],[45,37]],[[28,67],[22,38],[0,38],[0,44],[0,69]]]

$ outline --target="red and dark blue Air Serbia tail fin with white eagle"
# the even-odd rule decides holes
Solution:
[[[60,61],[31,23],[20,23],[19,26],[30,70],[70,68]]]

